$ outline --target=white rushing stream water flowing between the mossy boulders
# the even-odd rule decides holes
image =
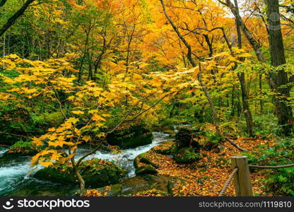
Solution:
[[[110,160],[128,170],[127,177],[133,177],[135,175],[133,162],[136,155],[144,153],[153,148],[153,146],[157,146],[159,143],[170,139],[169,134],[154,132],[153,142],[149,145],[123,150],[119,154],[98,151],[87,159],[100,158]],[[70,196],[78,189],[69,184],[35,179],[32,177],[34,172],[28,174],[28,172],[33,170],[33,167],[30,166],[30,158],[3,155],[7,150],[8,148],[0,147],[0,196]],[[79,148],[76,158],[81,157],[84,153],[88,153],[88,151],[90,151],[89,148]]]

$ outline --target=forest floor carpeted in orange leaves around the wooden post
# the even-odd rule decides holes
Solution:
[[[271,141],[246,138],[240,138],[234,142],[248,151],[256,151],[257,146],[260,144],[267,146],[271,143]],[[201,160],[189,165],[179,165],[168,155],[155,152],[158,149],[163,150],[171,146],[172,143],[155,146],[151,151],[148,151],[146,157],[159,166],[157,169],[159,175],[170,175],[184,179],[186,183],[182,184],[179,181],[174,188],[174,196],[218,196],[232,172],[230,157],[241,153],[229,142],[225,142],[223,143],[223,151],[220,153],[217,153],[216,149],[212,151],[201,150]],[[265,196],[266,191],[262,184],[264,171],[252,171],[250,177],[254,194]],[[226,196],[235,196],[233,184],[228,187]],[[271,194],[267,194],[267,196],[271,196]]]

